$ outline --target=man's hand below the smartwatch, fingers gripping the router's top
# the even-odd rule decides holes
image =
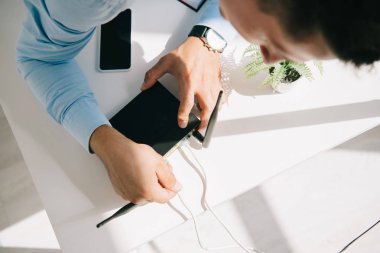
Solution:
[[[200,128],[204,129],[222,89],[220,71],[220,54],[209,51],[200,38],[188,37],[146,73],[141,89],[152,87],[165,73],[172,74],[178,81],[181,100],[178,125],[187,126],[196,96],[201,109]]]

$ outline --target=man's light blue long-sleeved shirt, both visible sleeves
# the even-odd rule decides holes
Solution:
[[[110,123],[75,56],[89,42],[96,26],[127,8],[127,0],[24,2],[28,17],[16,45],[18,70],[51,117],[89,150],[94,130]],[[208,1],[199,24],[212,27],[229,40],[235,31],[221,17],[218,4],[218,0]]]

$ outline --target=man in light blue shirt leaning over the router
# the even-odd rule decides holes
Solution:
[[[73,60],[94,27],[123,11],[126,0],[25,3],[30,14],[17,45],[18,68],[50,115],[100,157],[115,191],[124,199],[164,203],[175,196],[180,185],[170,165],[149,146],[134,143],[109,125]],[[373,0],[220,1],[224,18],[245,39],[260,44],[266,62],[338,56],[356,65],[372,63],[380,58],[376,7]],[[206,8],[201,26],[161,58],[142,85],[142,89],[150,88],[165,73],[176,77],[180,127],[187,124],[194,96],[201,108],[201,127],[205,127],[221,89],[221,50],[205,43],[198,30],[212,28],[227,38],[233,29],[220,16],[217,0],[210,0]]]

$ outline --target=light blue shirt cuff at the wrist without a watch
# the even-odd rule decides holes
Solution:
[[[94,100],[79,99],[66,112],[62,126],[90,153],[90,138],[102,125],[111,125]]]

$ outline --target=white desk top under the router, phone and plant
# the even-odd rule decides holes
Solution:
[[[159,55],[185,38],[196,18],[195,13],[174,0],[159,4],[131,1],[131,8],[132,71],[97,73],[96,38],[78,57],[109,117],[139,92],[145,71]],[[229,52],[239,55],[241,47],[230,47]],[[264,94],[252,87],[252,81],[244,79],[241,68],[230,69],[233,91],[220,112],[215,138],[209,149],[195,151],[207,170],[209,202],[216,205],[236,197],[378,125],[379,69],[377,66],[369,74],[355,73],[329,62],[322,78],[313,83],[302,81],[301,87],[282,95]],[[172,78],[164,79],[164,83],[175,87]],[[256,96],[246,96],[247,93]],[[168,205],[152,203],[96,229],[96,223],[125,204],[114,193],[100,160],[87,154],[53,123],[26,85],[5,84],[0,96],[63,252],[127,252],[183,223],[183,215],[178,212],[188,216],[174,199],[172,204],[178,212]],[[194,169],[179,152],[169,160],[183,184],[185,201],[194,212],[201,212],[202,184]]]

